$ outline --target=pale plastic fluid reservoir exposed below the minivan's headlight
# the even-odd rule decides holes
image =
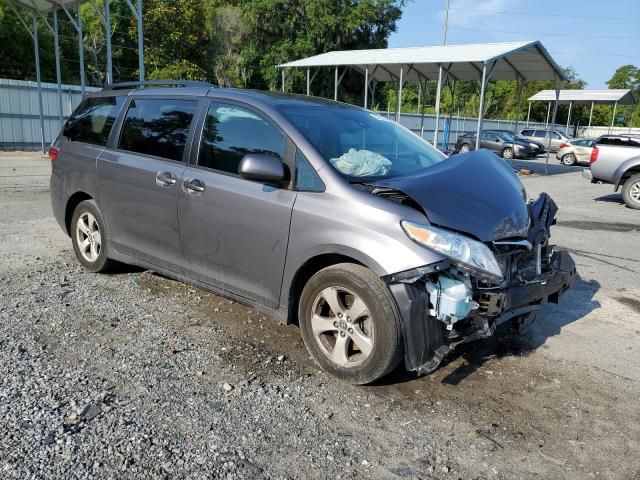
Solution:
[[[433,282],[427,280],[425,286],[431,304],[429,314],[444,322],[448,330],[453,328],[454,323],[467,317],[471,310],[478,308],[478,303],[472,298],[469,276],[440,274]]]

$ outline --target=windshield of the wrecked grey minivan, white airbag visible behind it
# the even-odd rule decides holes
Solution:
[[[445,159],[426,141],[375,113],[344,107],[279,107],[352,182],[412,175]]]

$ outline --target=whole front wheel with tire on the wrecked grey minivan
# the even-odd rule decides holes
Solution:
[[[302,291],[298,319],[307,350],[334,377],[363,385],[400,363],[400,314],[366,267],[341,263],[316,273]]]

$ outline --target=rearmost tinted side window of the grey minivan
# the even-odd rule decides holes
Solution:
[[[69,117],[63,135],[69,140],[105,145],[126,97],[85,99]]]

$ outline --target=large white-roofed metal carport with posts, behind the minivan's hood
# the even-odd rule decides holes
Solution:
[[[307,95],[311,92],[311,69],[333,67],[334,99],[338,98],[340,82],[348,69],[364,74],[364,107],[368,106],[368,94],[375,95],[377,82],[398,82],[398,114],[402,109],[402,87],[407,81],[437,81],[436,128],[434,144],[437,144],[440,117],[440,94],[447,80],[480,81],[480,106],[476,132],[476,148],[480,143],[485,90],[490,80],[516,80],[518,82],[518,115],[522,89],[527,80],[554,80],[556,92],[565,75],[539,41],[443,45],[410,48],[386,48],[371,50],[343,50],[315,55],[278,65],[282,72],[282,90],[285,90],[286,69],[307,70]],[[343,69],[340,73],[340,69]],[[373,82],[373,87],[371,86]],[[553,112],[553,121],[557,113]],[[517,124],[516,124],[517,128]],[[547,159],[548,161],[548,159]]]

